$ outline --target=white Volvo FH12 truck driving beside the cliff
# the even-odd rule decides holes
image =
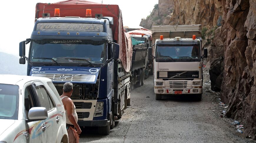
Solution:
[[[202,98],[202,59],[207,58],[203,49],[201,25],[152,26],[154,46],[151,57],[154,64],[155,99],[163,95],[187,94]]]

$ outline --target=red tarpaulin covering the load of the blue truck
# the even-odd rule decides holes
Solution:
[[[132,55],[127,55],[132,51],[127,51],[125,43],[125,35],[123,30],[122,12],[118,5],[113,4],[100,4],[85,0],[67,0],[60,1],[57,3],[37,3],[36,4],[36,15],[35,18],[42,17],[43,13],[50,13],[50,16],[54,15],[54,8],[60,9],[60,17],[65,16],[79,16],[86,17],[86,9],[92,10],[92,17],[95,14],[102,13],[104,16],[109,16],[114,18],[114,25],[112,26],[114,40],[120,45],[119,58],[121,59],[125,71],[130,71],[130,65],[132,60]],[[132,50],[132,49],[129,49]],[[128,63],[128,64],[127,64]]]

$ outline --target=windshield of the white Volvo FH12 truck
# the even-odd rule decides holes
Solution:
[[[156,59],[199,59],[199,44],[159,44],[156,46]]]

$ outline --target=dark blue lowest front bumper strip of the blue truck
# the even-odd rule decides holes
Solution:
[[[110,124],[110,121],[108,119],[105,120],[91,120],[91,121],[83,121],[78,120],[77,124],[80,127],[99,127],[99,126],[107,126]]]

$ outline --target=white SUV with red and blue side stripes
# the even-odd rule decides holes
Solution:
[[[64,106],[50,79],[0,75],[0,143],[68,143]]]

